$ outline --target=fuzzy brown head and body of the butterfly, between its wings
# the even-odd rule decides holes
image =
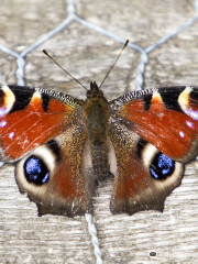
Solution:
[[[96,82],[90,84],[87,100],[84,105],[86,132],[91,145],[91,158],[95,174],[103,179],[109,174],[107,141],[109,130],[110,108],[103,92]]]

